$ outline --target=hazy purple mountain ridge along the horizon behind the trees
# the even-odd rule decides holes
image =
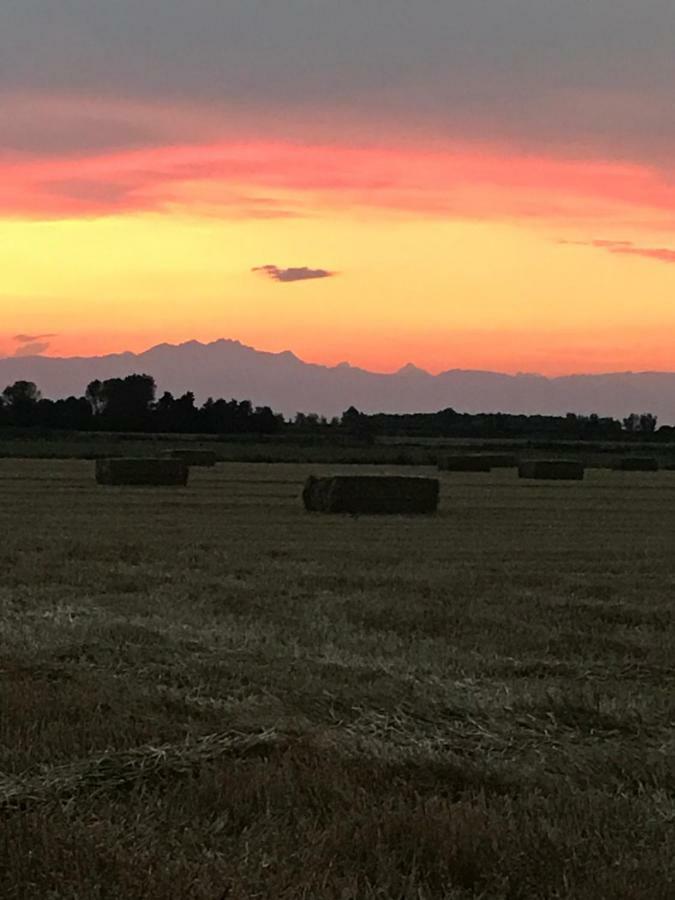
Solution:
[[[161,391],[194,391],[268,405],[285,415],[339,415],[349,406],[363,412],[504,412],[564,415],[567,412],[622,418],[652,412],[675,424],[675,372],[616,372],[602,375],[505,375],[450,369],[431,375],[412,363],[393,374],[340,363],[323,366],[294,353],[269,353],[221,339],[159,344],[143,353],[98,357],[45,356],[0,359],[0,390],[17,380],[34,381],[54,399],[81,395],[95,378],[147,373]]]

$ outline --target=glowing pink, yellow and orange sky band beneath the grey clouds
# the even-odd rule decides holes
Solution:
[[[675,368],[675,185],[657,166],[236,131],[0,154],[0,355],[230,337],[378,370]]]

